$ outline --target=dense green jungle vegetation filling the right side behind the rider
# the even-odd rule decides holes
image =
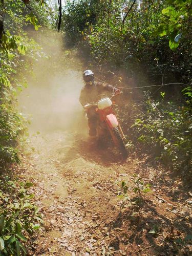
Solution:
[[[191,7],[190,0],[67,1],[61,23],[86,67],[124,87],[125,98],[141,95],[122,113],[129,139],[184,176],[192,160]]]

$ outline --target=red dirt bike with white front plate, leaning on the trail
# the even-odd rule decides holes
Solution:
[[[127,156],[127,151],[125,147],[125,136],[117,120],[117,117],[115,116],[112,106],[112,99],[121,93],[122,92],[119,92],[118,94],[113,94],[111,98],[104,94],[101,94],[104,95],[105,98],[100,99],[97,103],[91,102],[84,105],[84,110],[86,112],[90,110],[95,112],[95,118],[98,118],[98,137],[102,138],[103,135],[110,133],[115,146],[119,148],[123,156]]]

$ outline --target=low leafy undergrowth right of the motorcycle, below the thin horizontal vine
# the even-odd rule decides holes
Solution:
[[[191,88],[183,90],[187,96],[182,105],[165,100],[154,100],[146,93],[138,108],[137,118],[130,132],[144,151],[181,175],[190,176],[192,167]]]

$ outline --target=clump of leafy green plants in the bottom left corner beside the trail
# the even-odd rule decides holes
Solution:
[[[31,182],[1,177],[0,255],[26,255],[28,239],[43,223],[31,186]]]

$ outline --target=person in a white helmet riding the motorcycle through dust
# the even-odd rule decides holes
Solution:
[[[114,86],[110,86],[110,84],[106,84],[103,82],[94,81],[94,73],[91,70],[86,70],[83,72],[83,80],[86,82],[85,86],[81,89],[79,101],[82,106],[92,102],[97,101],[98,96],[102,94],[104,90],[111,91],[114,93],[119,93],[120,90]],[[96,136],[97,135],[97,116],[95,110],[90,110],[87,113],[88,116],[88,124],[89,124],[89,135]]]

